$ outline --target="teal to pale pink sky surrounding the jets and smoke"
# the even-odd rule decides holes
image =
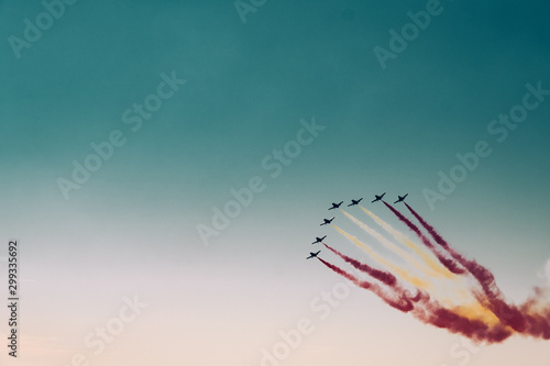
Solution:
[[[319,235],[369,260],[327,209],[407,233],[370,201],[408,192],[510,300],[550,285],[547,1],[67,2],[0,1],[1,365],[549,365],[305,260]]]

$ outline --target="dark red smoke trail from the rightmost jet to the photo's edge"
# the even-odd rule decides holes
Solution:
[[[480,265],[476,260],[466,259],[462,254],[458,253],[452,248],[449,243],[431,226],[426,220],[424,220],[410,206],[405,202],[407,209],[413,213],[413,215],[420,222],[420,224],[430,233],[431,237],[442,246],[449,254],[464,266],[477,282],[481,285],[483,292],[488,301],[488,309],[506,325],[512,326],[515,331],[519,333],[527,333],[532,336],[543,337],[544,340],[550,339],[550,306],[548,303],[539,306],[544,310],[536,311],[534,310],[534,304],[541,298],[540,291],[536,289],[536,296],[528,300],[524,306],[517,308],[513,304],[507,303],[504,300],[504,296],[501,289],[495,282],[495,276]]]

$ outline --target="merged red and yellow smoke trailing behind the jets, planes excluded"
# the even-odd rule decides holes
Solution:
[[[321,258],[319,258],[319,260],[333,271],[353,281],[356,286],[373,291],[391,307],[398,309],[399,311],[410,313],[426,324],[431,324],[440,329],[446,329],[451,333],[468,336],[474,342],[499,343],[512,336],[515,332],[536,339],[550,340],[550,288],[535,288],[535,293],[522,304],[509,304],[505,301],[502,291],[496,286],[494,275],[487,268],[481,266],[473,259],[466,259],[452,248],[449,243],[447,243],[442,236],[439,235],[439,233],[422,218],[420,218],[420,215],[408,204],[406,206],[409,211],[420,222],[424,229],[429,232],[438,246],[429,242],[429,240],[420,232],[418,226],[393,209],[393,207],[386,202],[384,203],[420,239],[425,239],[422,240],[422,243],[428,248],[443,248],[455,260],[454,264],[457,266],[459,264],[462,265],[466,271],[473,276],[479,286],[475,288],[461,287],[457,289],[460,295],[459,303],[462,304],[457,304],[457,301],[446,300],[443,306],[440,300],[432,298],[429,292],[422,290],[427,288],[432,290],[432,284],[422,282],[420,279],[410,276],[407,271],[377,255],[370,246],[359,241],[355,236],[350,235],[336,225],[332,226],[344,237],[363,248],[376,262],[384,265],[391,271],[372,268],[348,257],[323,243],[327,248],[355,268],[361,269],[370,274],[373,278],[380,280],[385,285],[384,289],[378,284],[362,281],[345,270],[331,265]],[[372,217],[375,218],[374,214]],[[391,226],[387,225],[386,228]],[[398,232],[396,231],[396,234]],[[420,248],[424,247],[420,246]],[[418,292],[415,296],[411,296],[407,290],[404,290],[394,274],[400,279],[407,280],[409,284],[419,288]],[[457,277],[454,279],[454,285],[460,285],[458,280],[464,281],[465,279],[471,279],[471,277]],[[465,298],[471,298],[472,300],[468,300],[469,302],[464,303]],[[487,309],[490,311],[487,311]]]

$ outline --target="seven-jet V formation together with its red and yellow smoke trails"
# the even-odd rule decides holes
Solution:
[[[369,262],[358,260],[329,245],[327,235],[316,237],[311,244],[322,245],[328,253],[321,256],[321,248],[315,248],[306,259],[316,258],[315,262],[319,262],[354,286],[371,291],[387,306],[411,314],[424,324],[463,335],[472,340],[473,344],[502,343],[516,334],[550,341],[548,291],[536,287],[527,300],[520,303],[509,302],[496,285],[495,275],[491,269],[473,258],[465,257],[449,244],[405,201],[408,195],[397,196],[392,200],[384,199],[385,195],[384,192],[374,196],[372,202],[380,201],[378,204],[385,207],[384,209],[388,210],[386,212],[392,212],[392,218],[399,221],[403,229],[407,230],[406,233],[375,215],[365,204],[360,204],[362,198],[346,204],[358,206],[359,210],[341,207],[344,206],[343,202],[332,203],[329,210],[338,208],[342,215],[361,228],[370,240],[363,242],[363,239],[358,239],[353,232],[348,233],[348,229],[341,229],[340,222],[334,222],[333,217],[324,219],[321,225],[330,224],[331,229],[361,248],[367,255]],[[399,202],[403,202],[402,206],[397,204]],[[373,229],[371,223],[356,219],[352,212],[354,210],[369,215],[376,223],[373,228],[380,229]],[[408,213],[414,219],[409,219]],[[377,242],[373,243],[376,246],[384,246],[391,252],[388,254],[399,257],[399,262],[394,262],[382,252],[378,253],[371,242]],[[330,255],[344,263],[339,265],[323,258]]]

